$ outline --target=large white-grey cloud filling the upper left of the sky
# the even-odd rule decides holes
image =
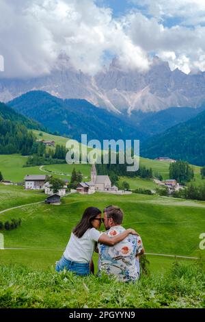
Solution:
[[[87,73],[102,68],[105,51],[132,68],[148,68],[146,52],[124,34],[109,8],[93,0],[1,0],[0,12],[6,77],[49,73],[62,52]]]

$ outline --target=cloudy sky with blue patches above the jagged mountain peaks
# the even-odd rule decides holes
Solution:
[[[0,77],[36,77],[68,55],[94,75],[118,57],[146,71],[152,55],[171,69],[205,71],[205,1],[0,0]]]

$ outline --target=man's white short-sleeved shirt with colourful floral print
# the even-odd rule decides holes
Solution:
[[[124,227],[116,225],[107,230],[108,236],[124,232]],[[136,253],[140,253],[143,245],[141,238],[128,235],[122,242],[113,247],[98,244],[99,271],[114,274],[124,282],[135,281],[139,277]]]

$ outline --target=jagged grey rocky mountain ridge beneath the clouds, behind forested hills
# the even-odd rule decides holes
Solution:
[[[86,99],[117,114],[156,112],[169,107],[197,108],[205,98],[205,72],[189,75],[157,57],[150,70],[126,70],[113,59],[109,69],[95,76],[75,70],[69,63],[50,75],[33,79],[0,79],[0,101],[10,101],[31,90],[43,90],[62,99]]]

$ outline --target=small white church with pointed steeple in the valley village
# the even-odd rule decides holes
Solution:
[[[118,191],[118,187],[111,186],[111,180],[108,175],[97,175],[96,166],[92,164],[91,169],[91,181],[90,182],[80,182],[77,186],[77,192],[83,194],[92,194],[97,191]]]

